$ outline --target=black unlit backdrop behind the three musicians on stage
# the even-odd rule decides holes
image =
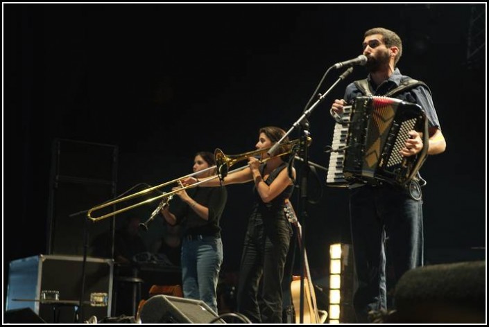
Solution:
[[[446,152],[422,167],[427,261],[485,253],[485,21],[486,5],[470,3],[4,3],[4,290],[10,260],[48,251],[56,139],[117,145],[117,194],[187,175],[200,150],[240,154],[255,150],[259,127],[289,130],[327,68],[361,54],[364,31],[377,26],[402,38],[398,67],[429,85],[447,139]],[[329,73],[320,92],[342,71]],[[330,104],[365,76],[357,67],[309,117],[314,163],[328,164]],[[96,167],[97,154],[86,155]],[[80,169],[91,169],[85,160]],[[320,278],[329,244],[350,242],[348,193],[327,188],[321,170],[319,182],[309,181],[317,204],[302,225]],[[251,191],[252,184],[228,186],[224,272],[239,268]],[[137,214],[146,220],[154,207]],[[87,209],[66,202],[67,213]],[[148,242],[161,227],[151,225]]]

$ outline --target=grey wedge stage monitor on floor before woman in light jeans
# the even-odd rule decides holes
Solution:
[[[139,318],[143,324],[225,324],[205,302],[168,295],[150,297]]]

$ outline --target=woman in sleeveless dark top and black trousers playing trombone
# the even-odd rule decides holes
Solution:
[[[271,148],[284,135],[284,130],[279,127],[263,127],[259,130],[256,148]],[[280,150],[285,152],[284,148]],[[291,224],[284,214],[284,200],[291,196],[295,179],[295,169],[291,168],[289,177],[287,163],[282,158],[270,158],[264,150],[261,160],[267,159],[266,163],[261,164],[259,159],[250,157],[248,167],[230,172],[222,181],[223,185],[255,184],[255,202],[243,245],[237,294],[238,311],[254,323],[282,322],[281,283],[292,236]],[[221,185],[213,177],[206,182],[188,177],[184,182],[200,182],[200,186]]]

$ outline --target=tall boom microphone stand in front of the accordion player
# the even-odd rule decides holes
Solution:
[[[334,67],[334,66],[333,66]],[[332,67],[330,67],[329,69],[331,69]],[[327,72],[325,73],[325,76],[327,75],[327,73],[329,72],[329,69],[327,70]],[[268,155],[270,155],[271,157],[273,157],[278,148],[280,147],[280,143],[282,143],[282,141],[284,141],[284,139],[286,138],[286,136],[289,136],[289,134],[291,134],[291,132],[293,130],[295,130],[295,128],[297,127],[300,127],[300,141],[299,141],[299,146],[300,146],[300,149],[299,149],[299,152],[300,152],[300,155],[302,155],[302,159],[300,161],[302,161],[302,169],[299,170],[299,174],[298,174],[298,181],[300,181],[300,186],[299,186],[299,189],[300,189],[300,195],[299,195],[299,202],[298,202],[298,218],[300,220],[300,222],[302,222],[302,240],[301,240],[301,243],[302,243],[302,247],[300,249],[300,321],[299,323],[300,324],[303,324],[304,323],[304,255],[305,255],[305,220],[307,220],[307,176],[309,175],[309,154],[308,154],[308,151],[307,151],[307,139],[310,135],[309,133],[309,123],[307,122],[307,118],[311,115],[311,113],[313,112],[314,109],[316,109],[316,107],[319,105],[319,103],[321,103],[325,97],[332,91],[332,89],[334,89],[334,87],[336,87],[336,85],[338,85],[339,82],[341,82],[341,80],[344,80],[348,75],[350,75],[350,73],[352,73],[353,71],[353,67],[350,67],[349,69],[347,69],[345,72],[343,72],[343,74],[341,74],[341,76],[338,78],[338,80],[336,80],[336,82],[334,82],[334,84],[329,87],[329,89],[327,89],[327,91],[325,91],[324,94],[319,94],[319,98],[318,100],[316,100],[315,103],[313,103],[311,105],[311,107],[309,107],[309,109],[306,109],[304,110],[304,113],[302,114],[302,116],[300,116],[298,118],[297,121],[295,121],[295,123],[293,123],[292,127],[286,132],[286,134],[284,134],[284,136],[282,136],[282,139],[280,139],[279,141],[277,141],[277,143],[275,143],[273,145],[273,147],[268,150]],[[325,76],[323,77],[323,80],[325,78]],[[323,80],[321,80],[321,82],[323,82]],[[320,83],[321,84],[321,83]],[[312,100],[312,98],[311,98]],[[311,101],[309,101],[310,103]],[[308,103],[308,105],[309,105]],[[312,281],[311,281],[312,283]],[[314,292],[314,290],[309,290],[310,292]]]

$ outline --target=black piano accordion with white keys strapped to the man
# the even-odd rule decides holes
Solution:
[[[334,127],[327,186],[378,184],[406,186],[428,152],[428,121],[419,105],[384,96],[359,96],[345,106]],[[403,157],[400,150],[416,130],[422,150]]]

